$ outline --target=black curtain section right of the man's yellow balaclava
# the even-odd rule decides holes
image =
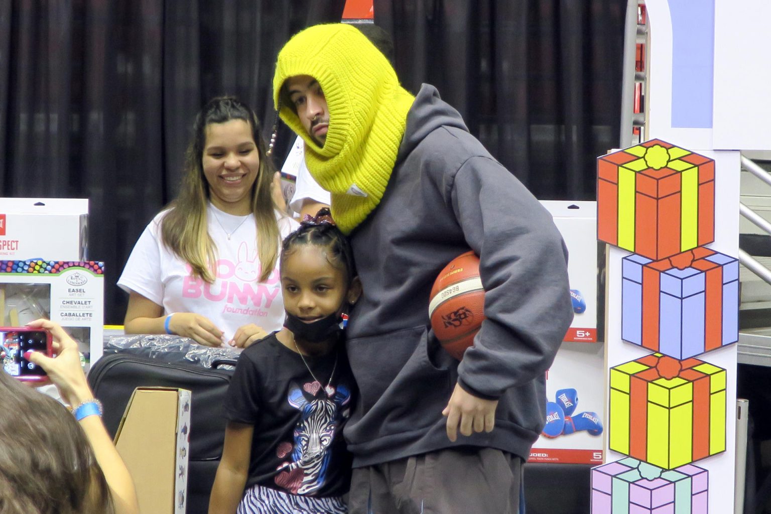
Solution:
[[[618,147],[625,2],[375,0],[396,72],[458,109],[540,200],[595,200],[596,156]]]

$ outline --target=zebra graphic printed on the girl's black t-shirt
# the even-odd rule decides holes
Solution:
[[[340,422],[348,417],[344,407],[350,399],[351,392],[344,385],[310,400],[300,388],[289,391],[289,405],[301,412],[301,418],[295,425],[291,462],[285,462],[274,477],[277,485],[298,495],[321,489],[331,459],[328,448]]]

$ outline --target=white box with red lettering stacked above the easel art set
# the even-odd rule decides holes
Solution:
[[[0,259],[86,260],[89,200],[0,198]]]

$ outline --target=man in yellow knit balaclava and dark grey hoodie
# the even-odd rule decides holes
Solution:
[[[550,214],[433,86],[412,96],[351,26],[295,35],[273,91],[332,193],[364,289],[346,329],[359,386],[344,431],[350,512],[520,512],[544,371],[573,316]],[[485,319],[459,362],[431,331],[429,293],[468,250],[480,257]]]

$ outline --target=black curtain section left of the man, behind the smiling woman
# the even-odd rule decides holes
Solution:
[[[267,136],[278,50],[305,26],[339,21],[344,5],[0,0],[0,197],[89,198],[106,323],[123,324],[128,296],[115,283],[177,192],[198,109],[236,95]]]

